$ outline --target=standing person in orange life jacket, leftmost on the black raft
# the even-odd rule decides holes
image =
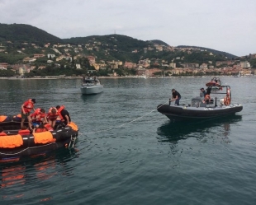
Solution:
[[[31,109],[33,109],[34,111],[36,110],[34,108],[35,103],[36,103],[36,99],[33,98],[33,99],[26,100],[26,102],[24,102],[21,105],[21,128],[24,125],[25,119],[27,119],[28,120],[28,126],[29,126],[29,128],[32,129],[30,114],[31,114]]]

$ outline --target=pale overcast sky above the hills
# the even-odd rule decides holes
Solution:
[[[256,54],[255,0],[0,0],[0,23],[61,39],[127,35],[237,56]]]

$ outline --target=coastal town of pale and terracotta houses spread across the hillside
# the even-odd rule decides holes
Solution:
[[[111,37],[114,38],[114,37]],[[115,40],[115,39],[113,39]],[[7,44],[0,44],[0,54],[8,54],[7,47],[12,45],[12,41],[7,41]],[[108,48],[109,47],[109,48]],[[27,50],[32,48],[37,53],[28,54]],[[31,49],[30,49],[31,50]],[[118,52],[118,47],[108,46],[99,41],[91,40],[88,44],[30,44],[27,42],[21,43],[21,48],[16,50],[17,54],[24,55],[19,63],[6,63],[0,61],[0,70],[11,70],[15,73],[15,77],[26,76],[27,73],[33,70],[43,70],[47,66],[52,68],[74,68],[76,70],[84,70],[86,72],[99,72],[108,70],[108,77],[130,76],[130,70],[133,70],[133,76],[146,77],[177,77],[177,76],[206,76],[206,75],[225,75],[225,76],[251,76],[254,75],[254,67],[251,66],[248,59],[255,59],[256,54],[239,57],[238,59],[225,58],[222,61],[213,62],[211,60],[203,63],[187,63],[186,57],[176,56],[167,61],[160,58],[141,58],[138,62],[121,61],[121,60],[104,60],[97,57],[97,52],[102,51],[107,57],[110,52]],[[130,53],[147,54],[154,51],[158,54],[161,52],[176,52],[178,54],[193,54],[195,52],[203,52],[209,57],[215,56],[212,52],[206,49],[197,48],[179,48],[164,44],[153,44],[143,50],[134,49]],[[81,59],[86,58],[88,63],[85,64]],[[1,60],[1,59],[0,59]],[[40,62],[40,63],[37,63]],[[121,75],[116,72],[117,69],[126,69],[126,75]]]

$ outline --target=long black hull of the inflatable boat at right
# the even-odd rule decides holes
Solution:
[[[217,107],[189,107],[184,105],[158,105],[158,111],[168,119],[193,120],[193,119],[214,119],[226,115],[235,114],[243,109],[242,105],[229,105]]]

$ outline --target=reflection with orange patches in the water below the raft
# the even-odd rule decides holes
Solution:
[[[73,175],[72,168],[65,166],[73,158],[77,158],[75,150],[59,149],[49,154],[21,158],[20,161],[0,164],[0,188],[15,188],[21,184],[35,183],[48,180],[55,175]],[[60,168],[59,168],[60,166]],[[59,173],[61,170],[61,173]],[[19,193],[23,195],[24,193]],[[11,197],[11,196],[5,196]],[[12,196],[13,197],[13,196]]]

